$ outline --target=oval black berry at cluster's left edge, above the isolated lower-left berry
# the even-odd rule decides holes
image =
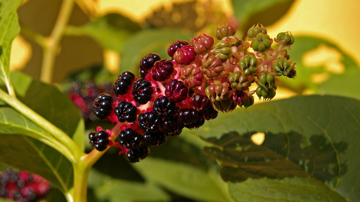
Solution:
[[[105,120],[111,113],[113,98],[108,93],[101,93],[94,101],[93,114],[99,120]]]

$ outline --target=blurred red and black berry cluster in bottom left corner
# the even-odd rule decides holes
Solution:
[[[39,175],[15,171],[10,167],[0,172],[0,182],[1,197],[19,202],[33,201],[50,189],[50,183]]]

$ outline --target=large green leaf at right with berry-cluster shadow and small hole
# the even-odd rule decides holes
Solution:
[[[224,180],[300,177],[313,184],[316,178],[348,201],[359,201],[359,120],[358,100],[298,96],[219,114],[192,132],[216,146],[205,151],[221,162]],[[250,141],[256,132],[265,133],[261,146]],[[274,190],[274,197],[282,191]]]

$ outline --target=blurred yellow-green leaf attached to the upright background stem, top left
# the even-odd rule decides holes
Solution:
[[[139,25],[129,18],[111,13],[82,27],[69,26],[67,34],[88,35],[104,48],[120,51],[127,38],[139,30]]]

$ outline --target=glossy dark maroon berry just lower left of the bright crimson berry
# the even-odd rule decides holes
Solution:
[[[155,81],[163,82],[170,78],[174,72],[174,65],[170,60],[161,59],[154,63],[154,68],[151,69],[151,75]]]

